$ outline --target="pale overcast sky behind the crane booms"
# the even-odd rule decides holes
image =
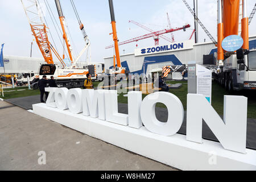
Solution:
[[[24,0],[27,1],[27,0]],[[63,54],[61,42],[57,37],[55,27],[48,15],[45,2],[46,0],[39,0],[42,6],[44,15],[46,16],[49,29],[52,32],[54,42],[56,43],[59,54]],[[57,23],[59,23],[56,6],[54,0],[47,0]],[[73,0],[79,12],[82,23],[85,25],[85,30],[89,36],[92,48],[92,61],[104,62],[104,57],[113,56],[113,48],[105,49],[106,46],[113,44],[109,5],[108,0]],[[80,52],[84,47],[84,40],[79,29],[75,13],[73,12],[71,2],[69,0],[60,0],[64,15],[67,19],[68,27],[73,39],[72,46],[75,52]],[[135,24],[128,23],[129,20],[135,20],[142,23],[152,30],[158,31],[167,28],[168,12],[172,27],[182,27],[184,24],[191,24],[186,32],[174,32],[175,41],[188,40],[193,31],[193,16],[188,11],[187,7],[181,0],[113,0],[115,19],[117,21],[118,39],[120,42],[125,40],[148,34],[146,30]],[[192,7],[193,0],[187,0]],[[251,13],[255,0],[248,0],[248,14]],[[217,0],[199,0],[199,19],[209,32],[217,39]],[[26,15],[23,10],[20,0],[0,0],[0,43],[5,43],[4,54],[16,56],[30,56],[30,45],[34,37],[30,31]],[[256,18],[249,27],[249,35],[256,35]],[[171,38],[170,34],[165,36]],[[199,27],[199,42],[204,39],[208,41],[208,36]],[[53,42],[52,39],[49,39]],[[166,40],[160,39],[159,44],[168,43]],[[133,53],[136,45],[138,47],[154,46],[152,38],[140,40],[130,44],[120,46],[121,55],[124,53]],[[42,57],[39,48],[34,42],[32,49],[33,57]],[[83,56],[84,58],[85,56]]]

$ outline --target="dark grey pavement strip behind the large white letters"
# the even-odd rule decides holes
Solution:
[[[37,104],[40,102],[39,97],[40,96],[20,97],[20,98],[12,98],[6,101],[28,110],[28,109],[32,109],[32,104]],[[119,113],[128,114],[128,105],[119,103],[118,111]],[[167,118],[168,118],[167,109],[156,107],[155,113],[156,113],[156,118],[158,118],[159,121],[162,121],[162,122],[167,121]],[[183,134],[183,135],[186,134],[186,125],[187,125],[186,114],[187,113],[185,112],[183,124],[180,130],[178,131],[179,134]],[[203,138],[218,142],[218,139],[215,137],[215,135],[212,133],[212,131],[209,129],[209,127],[205,122],[203,122]],[[246,146],[247,148],[256,150],[256,119],[247,118]]]

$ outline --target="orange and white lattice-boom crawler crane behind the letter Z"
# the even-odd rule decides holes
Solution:
[[[71,41],[68,35],[67,23],[65,23],[65,17],[63,15],[63,11],[61,10],[59,0],[55,0],[57,11],[59,13],[60,25],[63,31],[63,41],[65,42],[65,46],[68,51],[68,60],[71,64],[67,65],[63,60],[65,56],[61,57],[59,53],[57,53],[56,49],[49,42],[47,32],[48,27],[43,21],[43,13],[42,8],[38,0],[20,0],[22,2],[24,11],[26,13],[28,22],[30,23],[32,35],[34,35],[36,43],[44,57],[44,60],[47,64],[40,65],[39,68],[39,78],[42,78],[43,75],[46,75],[47,78],[53,76],[56,80],[56,84],[59,86],[65,86],[67,88],[75,88],[81,87],[86,78],[86,74],[89,73],[88,69],[77,67],[77,61],[80,59],[82,53],[90,48],[90,42],[88,36],[84,36],[86,45],[85,48],[82,49],[79,56],[74,59],[72,53]],[[73,4],[72,4],[73,6]],[[80,25],[80,29],[82,32],[84,31],[84,26]],[[53,54],[60,61],[61,65],[57,65],[53,62]],[[34,85],[31,85],[32,88],[37,88],[37,82]]]

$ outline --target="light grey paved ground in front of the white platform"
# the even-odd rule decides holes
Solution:
[[[0,170],[175,169],[0,101]]]

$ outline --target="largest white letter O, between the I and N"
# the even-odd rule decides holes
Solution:
[[[156,103],[163,103],[168,109],[166,123],[158,121],[155,115]],[[164,136],[172,136],[179,131],[184,118],[181,101],[169,92],[157,92],[145,97],[141,104],[141,119],[147,130]]]

